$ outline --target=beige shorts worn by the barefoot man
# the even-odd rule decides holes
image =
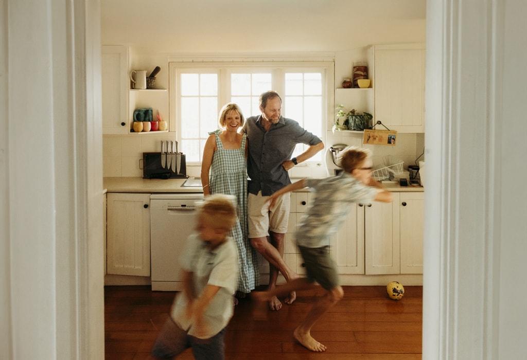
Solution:
[[[287,233],[291,193],[280,196],[272,208],[269,208],[268,198],[269,196],[262,196],[261,191],[258,195],[249,193],[247,199],[249,238],[266,237],[269,231],[278,234]]]

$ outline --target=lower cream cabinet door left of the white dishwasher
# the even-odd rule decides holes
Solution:
[[[108,194],[107,272],[150,276],[150,194]]]

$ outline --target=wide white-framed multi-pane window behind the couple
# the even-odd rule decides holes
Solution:
[[[307,131],[326,135],[333,91],[333,62],[170,63],[170,113],[187,164],[199,164],[209,132],[219,128],[218,115],[228,102],[243,116],[260,115],[261,93],[275,90],[282,98],[282,116]],[[294,156],[306,145],[298,144]],[[318,153],[309,163],[320,162]]]

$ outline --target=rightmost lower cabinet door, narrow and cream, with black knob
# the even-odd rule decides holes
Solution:
[[[423,273],[424,193],[401,193],[401,274]]]

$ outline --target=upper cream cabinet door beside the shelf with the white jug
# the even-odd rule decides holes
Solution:
[[[103,134],[128,133],[128,49],[102,47]]]

